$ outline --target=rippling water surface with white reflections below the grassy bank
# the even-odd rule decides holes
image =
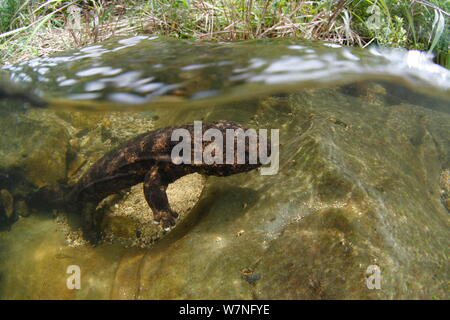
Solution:
[[[130,109],[241,100],[367,78],[402,81],[449,97],[450,71],[431,58],[419,51],[361,50],[286,39],[209,43],[136,36],[3,69],[13,81],[50,101],[69,98],[88,100],[66,102],[83,108]],[[60,100],[54,103],[61,108]]]

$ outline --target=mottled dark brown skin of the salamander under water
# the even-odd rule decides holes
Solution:
[[[48,200],[49,190],[38,191],[41,202],[53,202],[54,206],[63,207],[65,210],[81,212],[83,220],[83,235],[91,243],[95,244],[100,239],[100,223],[102,214],[96,211],[98,203],[108,195],[118,193],[138,183],[144,182],[144,195],[148,205],[153,211],[154,219],[160,222],[163,228],[175,225],[178,214],[169,205],[166,195],[167,186],[182,176],[194,172],[213,175],[229,176],[236,173],[253,170],[260,164],[237,164],[236,154],[233,164],[179,164],[172,163],[172,148],[179,141],[171,141],[172,131],[178,128],[187,129],[191,137],[194,137],[194,125],[179,125],[149,131],[130,139],[105,154],[99,159],[81,179],[65,188],[63,195],[56,197],[57,200]],[[222,132],[225,142],[226,129],[244,129],[242,126],[231,121],[217,121],[203,123],[203,132],[209,128],[216,128]],[[203,148],[210,142],[203,142]],[[236,147],[236,144],[235,144]],[[249,146],[246,142],[246,159],[248,159]],[[191,153],[193,159],[193,142]],[[235,152],[236,153],[236,152]],[[225,156],[224,156],[225,157]],[[54,189],[53,189],[54,190]]]

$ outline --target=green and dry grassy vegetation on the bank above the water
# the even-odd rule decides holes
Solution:
[[[137,33],[416,48],[450,68],[450,0],[0,0],[0,63]]]

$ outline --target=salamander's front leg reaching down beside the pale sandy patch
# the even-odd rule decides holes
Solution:
[[[153,167],[144,179],[144,195],[155,221],[162,223],[164,229],[168,229],[176,224],[178,214],[170,208],[166,194],[168,183],[164,181],[163,176],[157,167]]]

